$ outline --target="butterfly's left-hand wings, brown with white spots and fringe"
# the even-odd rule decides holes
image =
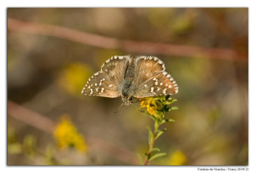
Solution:
[[[115,98],[121,96],[124,73],[131,61],[129,56],[113,56],[101,66],[101,70],[88,79],[82,94]]]

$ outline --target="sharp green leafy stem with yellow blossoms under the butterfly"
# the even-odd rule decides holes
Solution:
[[[155,158],[166,155],[166,153],[160,153],[160,149],[157,147],[154,147],[154,143],[166,131],[166,128],[164,128],[163,130],[160,130],[159,126],[167,122],[174,122],[173,119],[166,119],[165,113],[171,110],[178,109],[177,107],[168,107],[168,105],[172,104],[173,102],[176,102],[177,100],[170,98],[170,95],[140,98],[138,100],[141,101],[140,109],[147,108],[147,110],[143,112],[147,116],[149,116],[151,119],[153,119],[155,122],[154,132],[152,131],[150,126],[147,126],[149,148],[148,148],[148,152],[144,154],[145,155],[144,159],[141,156],[141,154],[138,153],[140,164],[148,165],[148,162],[150,162],[151,160],[154,160]]]

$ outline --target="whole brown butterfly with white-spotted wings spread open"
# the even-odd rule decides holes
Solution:
[[[124,105],[132,97],[144,98],[178,93],[179,87],[165,70],[163,61],[152,56],[113,56],[101,70],[88,79],[81,91],[88,96],[116,98],[122,96]]]

